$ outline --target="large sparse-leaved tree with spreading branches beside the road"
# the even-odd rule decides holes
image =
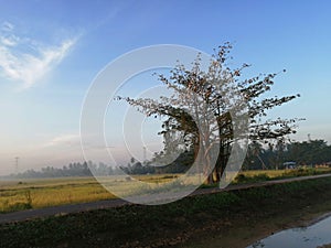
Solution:
[[[244,79],[242,73],[249,67],[243,64],[239,68],[231,68],[231,43],[215,50],[206,71],[202,69],[197,55],[191,69],[179,64],[170,72],[171,76],[159,75],[172,95],[160,99],[118,97],[125,99],[147,116],[164,116],[164,138],[177,137],[170,132],[179,132],[183,137],[181,147],[193,150],[194,159],[201,163],[207,182],[220,182],[234,145],[234,116],[248,107],[248,137],[255,142],[282,140],[293,133],[297,119],[263,120],[267,110],[299,97],[263,98],[263,94],[274,85],[274,74],[260,74]],[[236,98],[241,96],[242,98]],[[244,99],[244,101],[243,101]],[[215,121],[213,121],[215,120]],[[244,123],[245,125],[245,123]],[[169,144],[164,145],[164,153]],[[213,158],[217,149],[217,158]],[[170,152],[171,153],[171,152]],[[213,161],[215,166],[213,168]]]

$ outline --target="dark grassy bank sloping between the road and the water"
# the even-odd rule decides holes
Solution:
[[[331,179],[190,196],[0,226],[0,247],[164,247],[324,204]]]

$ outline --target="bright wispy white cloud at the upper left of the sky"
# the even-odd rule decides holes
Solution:
[[[45,45],[17,35],[14,25],[4,22],[0,32],[0,72],[8,79],[23,83],[23,88],[30,88],[67,56],[76,41],[74,37],[57,45]]]

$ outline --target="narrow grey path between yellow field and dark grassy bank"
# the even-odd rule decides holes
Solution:
[[[213,193],[228,192],[228,191],[235,191],[235,190],[245,190],[245,188],[250,188],[250,187],[263,187],[263,186],[267,186],[267,185],[282,184],[282,183],[303,181],[303,180],[321,179],[321,177],[328,177],[328,176],[331,176],[331,174],[300,176],[300,177],[293,177],[293,179],[274,180],[274,181],[266,181],[266,182],[252,183],[252,184],[229,185],[225,188],[199,188],[195,192],[193,192],[191,195],[213,194]],[[98,201],[98,202],[92,202],[92,203],[54,206],[54,207],[47,207],[47,208],[42,208],[42,209],[21,211],[21,212],[14,212],[14,213],[9,213],[9,214],[0,214],[0,224],[12,223],[12,222],[22,222],[22,220],[26,220],[26,219],[47,217],[47,216],[53,216],[53,215],[63,215],[63,214],[71,214],[71,213],[78,213],[78,212],[87,212],[87,211],[93,211],[93,209],[119,207],[122,205],[130,205],[130,204],[131,203],[128,203],[124,200],[118,198],[118,200]]]

